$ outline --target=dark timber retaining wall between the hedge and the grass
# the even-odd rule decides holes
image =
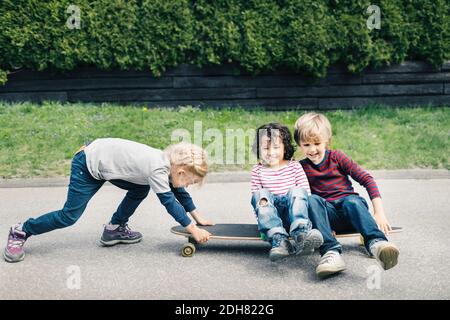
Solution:
[[[239,105],[272,110],[370,104],[450,106],[450,61],[437,69],[408,61],[361,74],[334,66],[320,80],[283,70],[252,76],[231,65],[181,65],[159,78],[145,71],[82,67],[67,73],[18,70],[8,79],[0,86],[0,100],[118,102],[149,107]]]

